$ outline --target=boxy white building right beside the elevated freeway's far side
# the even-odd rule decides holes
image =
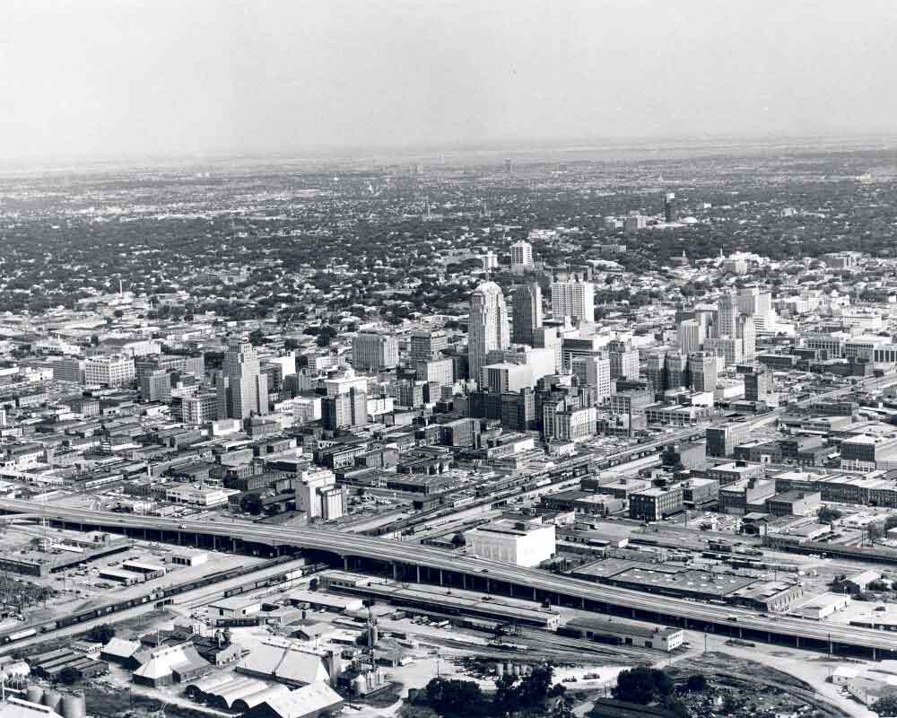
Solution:
[[[554,556],[554,524],[499,519],[465,533],[467,547],[480,558],[537,566]]]

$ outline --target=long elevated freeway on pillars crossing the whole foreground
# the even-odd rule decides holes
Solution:
[[[28,501],[0,499],[3,512],[33,515],[35,509],[35,504]],[[233,550],[266,547],[271,553],[303,549],[342,559],[346,568],[373,566],[397,581],[438,582],[473,591],[509,593],[519,598],[549,600],[579,609],[820,651],[871,652],[874,658],[897,657],[897,635],[872,629],[762,616],[744,609],[605,586],[401,541],[334,530],[178,521],[53,505],[46,506],[39,514],[69,528],[112,530],[170,543],[187,541]]]

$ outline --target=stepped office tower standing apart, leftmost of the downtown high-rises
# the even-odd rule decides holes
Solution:
[[[218,418],[247,419],[268,413],[268,377],[258,372],[258,356],[247,337],[231,339],[218,383]]]

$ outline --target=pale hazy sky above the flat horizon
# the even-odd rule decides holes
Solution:
[[[893,135],[894,0],[2,0],[0,158]]]

